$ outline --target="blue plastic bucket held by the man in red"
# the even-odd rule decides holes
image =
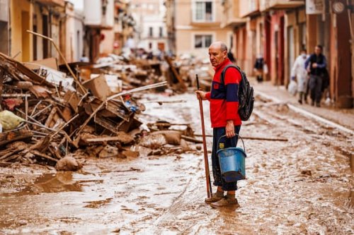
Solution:
[[[244,143],[244,140],[242,140],[242,143]],[[241,147],[227,147],[218,150],[217,157],[219,158],[222,176],[226,182],[246,179],[245,159],[247,156],[244,149]]]

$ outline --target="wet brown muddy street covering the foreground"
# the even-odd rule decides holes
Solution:
[[[192,93],[144,95],[144,101],[143,122],[192,123],[201,133]],[[207,102],[204,111],[211,134]],[[239,181],[236,210],[205,204],[202,145],[188,143],[183,154],[84,158],[76,172],[0,168],[0,234],[354,233],[353,135],[263,97],[256,97],[240,135],[287,141],[244,140],[247,179]]]

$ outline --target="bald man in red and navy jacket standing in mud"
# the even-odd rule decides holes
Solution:
[[[241,119],[238,113],[239,109],[239,83],[241,74],[236,68],[228,68],[224,83],[220,80],[222,69],[232,62],[227,58],[227,46],[223,42],[214,42],[209,47],[210,63],[215,69],[215,75],[212,79],[212,88],[210,92],[196,91],[198,98],[210,101],[210,120],[213,128],[212,143],[212,174],[214,176],[214,185],[217,186],[217,192],[212,194],[211,198],[205,200],[211,203],[212,207],[239,206],[235,198],[237,190],[237,181],[226,182],[221,174],[217,150],[220,148],[236,147],[237,137],[241,128]],[[226,135],[227,138],[219,138]],[[219,140],[219,145],[218,145]],[[224,196],[224,191],[227,195]]]

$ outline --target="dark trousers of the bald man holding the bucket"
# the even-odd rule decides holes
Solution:
[[[235,126],[235,133],[239,134],[241,126]],[[214,128],[212,130],[212,175],[214,176],[214,185],[222,186],[223,191],[235,191],[237,190],[236,182],[226,182],[224,181],[219,164],[219,158],[217,157],[217,150],[220,148],[236,147],[238,136],[234,138],[227,138],[226,136],[221,138],[218,144],[219,138],[225,135],[225,128]]]

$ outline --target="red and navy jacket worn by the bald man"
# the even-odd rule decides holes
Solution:
[[[225,59],[222,64],[215,67],[214,78],[212,78],[212,90],[207,92],[206,99],[210,101],[210,119],[212,128],[225,127],[227,120],[234,120],[234,126],[241,125],[239,116],[239,83],[241,74],[236,68],[227,68],[224,77],[224,84],[221,83],[222,69],[232,64]]]

